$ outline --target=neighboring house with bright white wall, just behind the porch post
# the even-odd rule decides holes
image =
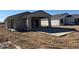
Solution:
[[[52,26],[64,25],[65,18],[68,15],[69,15],[68,13],[52,15],[51,16],[51,25]]]

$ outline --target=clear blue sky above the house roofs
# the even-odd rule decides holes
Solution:
[[[0,22],[3,22],[6,17],[22,13],[22,12],[34,12],[37,10],[0,10]],[[45,12],[48,12],[49,14],[62,14],[62,13],[69,13],[69,14],[79,14],[79,10],[44,10]]]

